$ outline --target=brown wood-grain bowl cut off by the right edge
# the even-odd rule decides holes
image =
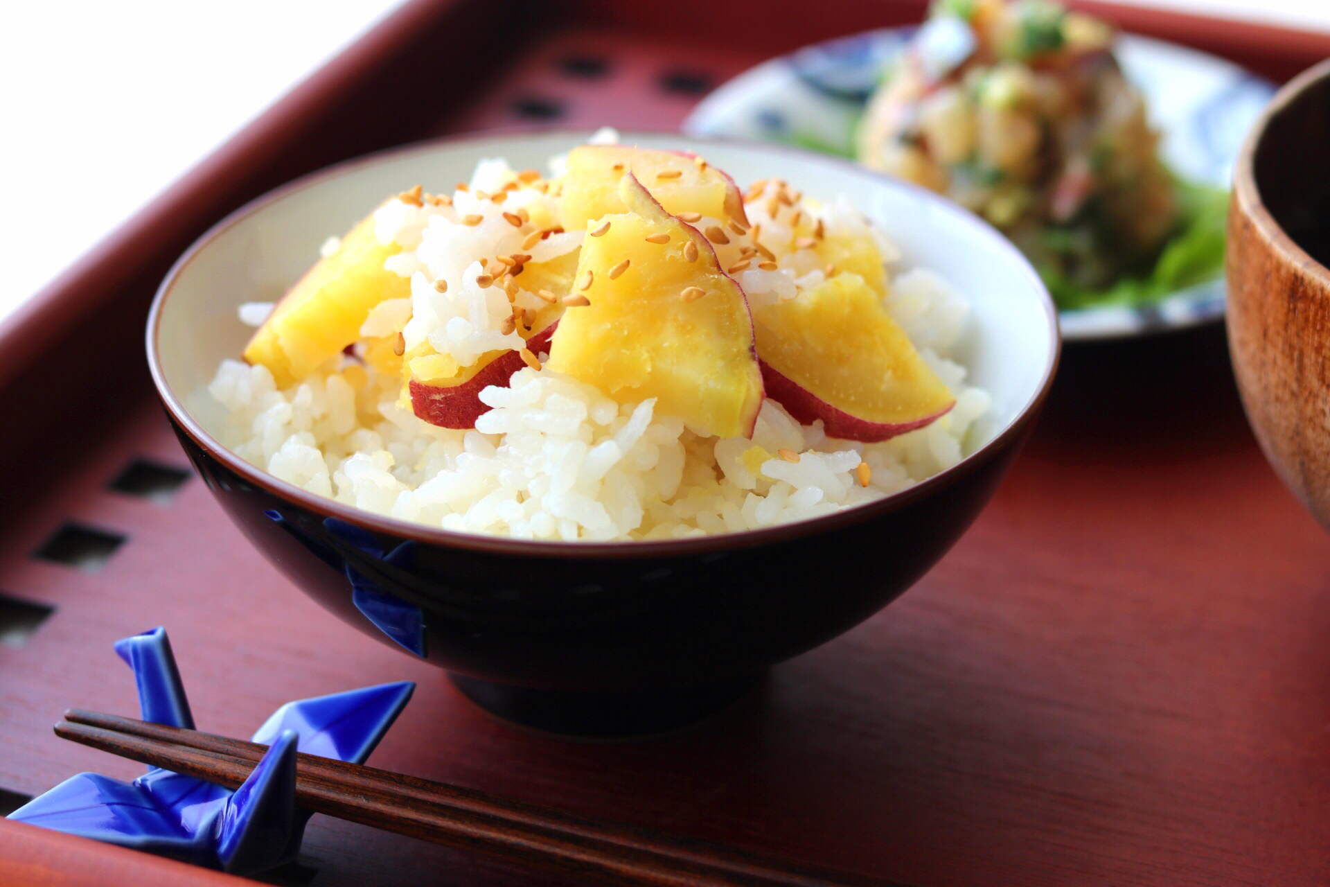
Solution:
[[[1229,350],[1283,483],[1330,529],[1330,60],[1248,136],[1229,210]]]

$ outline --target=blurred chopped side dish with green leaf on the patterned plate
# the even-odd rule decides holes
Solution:
[[[858,157],[987,218],[1069,309],[1222,271],[1226,194],[1178,180],[1158,141],[1103,21],[939,0],[870,100]]]

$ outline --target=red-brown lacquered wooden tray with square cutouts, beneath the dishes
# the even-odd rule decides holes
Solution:
[[[1330,40],[1080,4],[1286,78]],[[1325,884],[1330,544],[1246,428],[1222,330],[1071,348],[1041,427],[900,601],[709,723],[571,743],[496,723],[290,588],[188,473],[142,356],[169,263],[329,162],[500,126],[677,126],[710,86],[922,3],[412,3],[0,328],[0,806],[78,770],[66,706],[134,713],[110,642],[166,625],[202,729],[419,682],[374,763],[943,884]],[[817,581],[872,581],[818,567]],[[557,884],[315,817],[281,884]],[[225,884],[0,822],[0,884]]]

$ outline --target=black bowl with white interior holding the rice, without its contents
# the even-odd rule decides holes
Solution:
[[[317,173],[237,211],[172,270],[148,359],[180,440],[249,539],[364,633],[447,669],[472,699],[557,733],[650,733],[717,707],[762,670],[872,616],[960,539],[1029,434],[1057,364],[1057,319],[1029,263],[942,198],[778,145],[626,133],[702,153],[743,180],[781,174],[853,194],[910,265],[972,297],[962,360],[994,395],[975,451],[903,492],[815,520],[728,536],[548,543],[406,524],[323,499],[246,463],[200,398],[249,335],[242,302],[270,299],[366,206],[403,182],[466,178],[483,157],[519,169],[577,134],[464,138]],[[329,650],[336,656],[336,650]]]

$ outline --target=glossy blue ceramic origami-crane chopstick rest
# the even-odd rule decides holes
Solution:
[[[116,642],[144,721],[194,727],[165,629]],[[133,782],[80,773],[11,819],[234,874],[295,859],[310,813],[295,806],[295,753],[364,763],[411,698],[411,682],[287,702],[253,735],[271,746],[235,791],[160,767]]]

